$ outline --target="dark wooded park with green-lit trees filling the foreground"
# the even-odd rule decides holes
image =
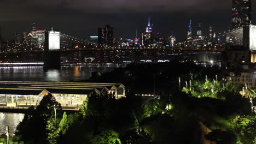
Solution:
[[[219,67],[190,62],[94,74],[83,82],[123,83],[125,97],[92,92],[79,111],[65,111],[44,95],[9,143],[256,143],[255,90],[223,77]]]

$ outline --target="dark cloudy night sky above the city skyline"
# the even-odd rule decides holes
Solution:
[[[253,2],[252,9],[255,8]],[[216,32],[231,27],[231,0],[0,0],[0,26],[5,40],[15,32],[31,31],[31,23],[38,29],[50,29],[79,38],[97,35],[97,28],[108,24],[114,27],[115,37],[135,37],[145,31],[148,16],[153,31],[162,36],[174,34],[178,40],[187,35],[189,20],[195,34],[202,23]],[[252,15],[252,23],[256,24]]]

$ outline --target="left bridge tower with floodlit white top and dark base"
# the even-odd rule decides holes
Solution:
[[[44,69],[60,69],[60,32],[45,31]]]

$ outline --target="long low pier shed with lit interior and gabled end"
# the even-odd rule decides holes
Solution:
[[[125,97],[122,83],[0,81],[0,105],[38,105],[46,94],[52,94],[63,106],[79,106],[90,93],[113,93]]]

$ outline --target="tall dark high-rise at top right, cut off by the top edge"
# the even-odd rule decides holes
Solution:
[[[251,0],[232,0],[232,29],[251,25]]]

